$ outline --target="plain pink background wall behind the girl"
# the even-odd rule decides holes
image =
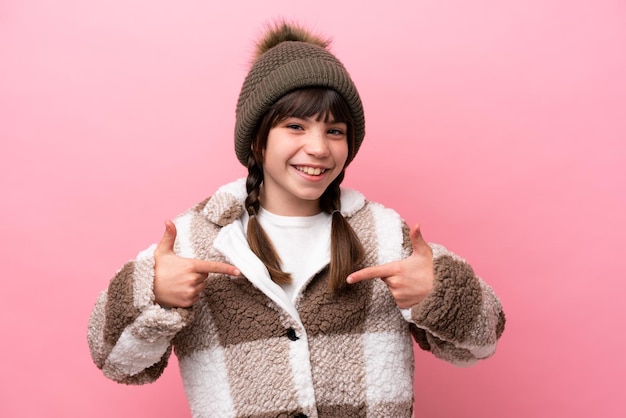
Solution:
[[[105,379],[98,293],[163,221],[244,175],[234,108],[261,24],[334,37],[360,88],[346,185],[500,295],[494,358],[416,357],[418,417],[624,417],[626,5],[0,2],[0,416],[186,417],[175,359]]]

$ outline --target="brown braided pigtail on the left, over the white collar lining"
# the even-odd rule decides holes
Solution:
[[[274,249],[267,233],[257,219],[259,212],[259,195],[263,183],[263,169],[257,164],[251,153],[248,157],[248,177],[246,179],[246,210],[248,220],[248,245],[254,254],[265,264],[272,280],[278,284],[291,283],[291,276],[281,270],[281,260]]]

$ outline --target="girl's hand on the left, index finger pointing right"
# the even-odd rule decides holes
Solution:
[[[154,251],[154,297],[164,308],[188,308],[198,301],[209,273],[239,276],[230,264],[184,258],[174,253],[176,226],[165,222],[165,233]]]

